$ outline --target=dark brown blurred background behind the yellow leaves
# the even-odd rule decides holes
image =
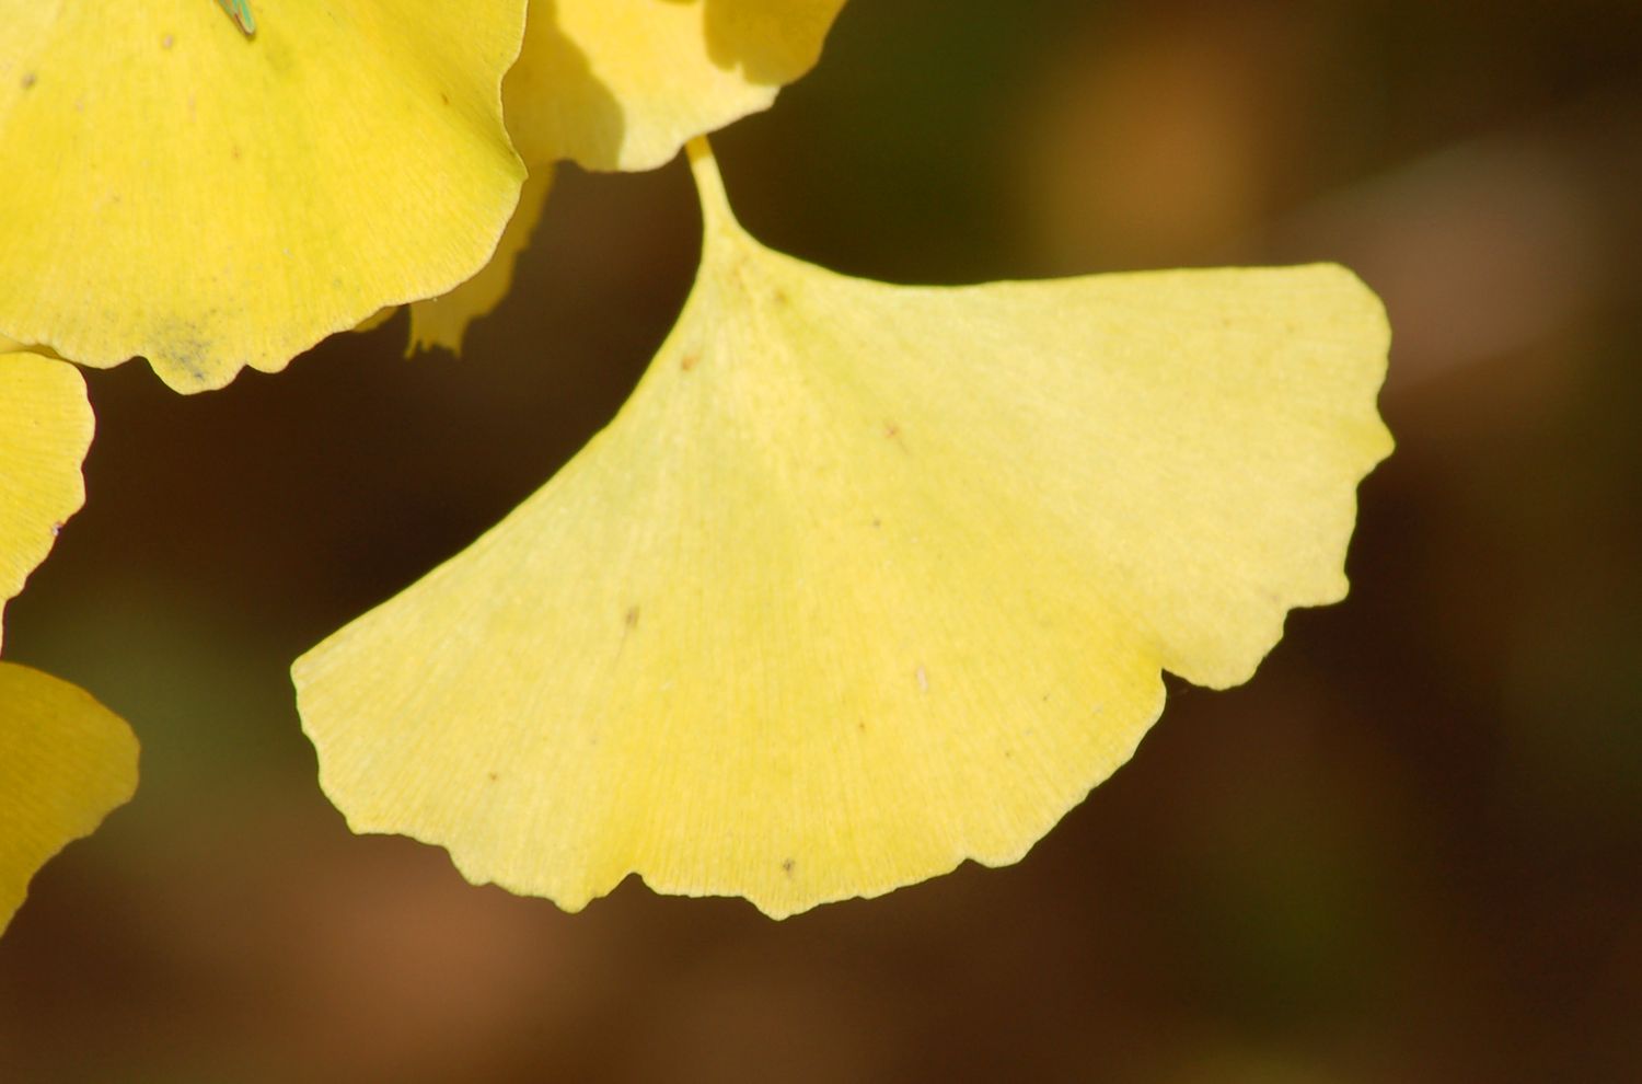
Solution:
[[[401,315],[192,399],[90,374],[7,654],[144,777],[0,939],[0,1081],[1642,1079],[1642,5],[854,0],[718,148],[855,274],[1356,268],[1399,448],[1351,598],[1176,683],[1020,866],[780,925],[350,836],[289,660],[542,485],[688,289],[677,163],[566,169],[460,360]]]

